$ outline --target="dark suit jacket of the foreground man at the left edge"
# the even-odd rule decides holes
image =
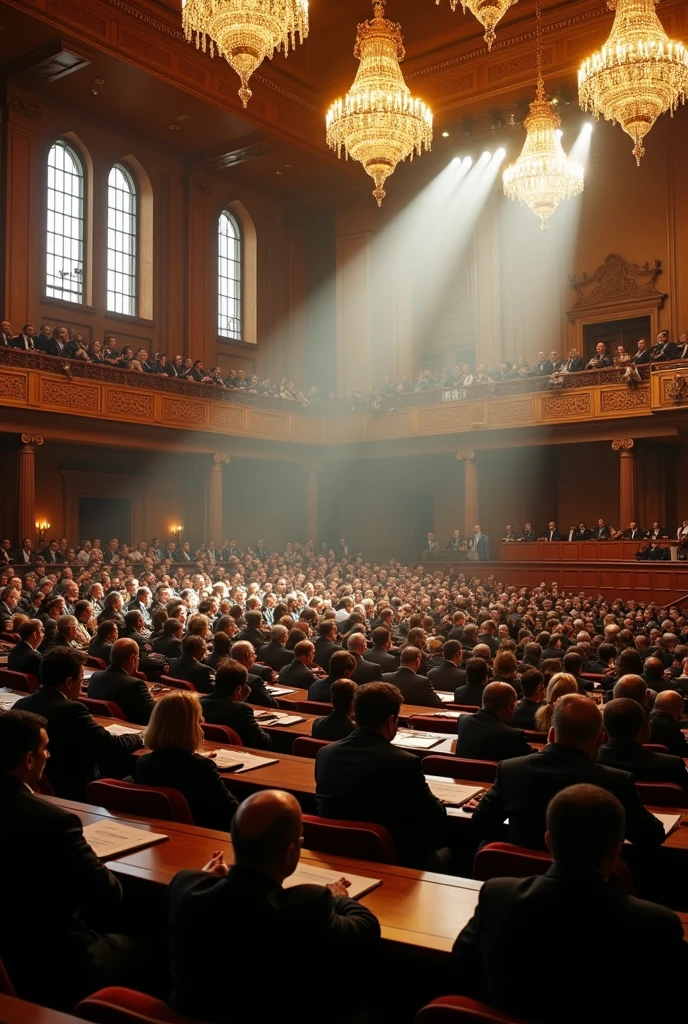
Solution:
[[[3,878],[12,878],[20,864],[31,880],[4,887],[0,958],[22,998],[72,1010],[100,983],[106,950],[95,930],[113,930],[122,888],[86,843],[76,814],[34,796],[9,775],[0,776],[0,821]],[[41,944],[50,951],[40,971],[27,955],[37,922]]]

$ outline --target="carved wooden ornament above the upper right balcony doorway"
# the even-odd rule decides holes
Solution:
[[[568,318],[576,319],[591,314],[609,312],[615,315],[644,309],[660,308],[666,295],[658,291],[656,281],[661,273],[661,260],[651,263],[629,263],[617,253],[610,253],[592,276],[584,273],[580,279],[569,278],[575,291],[575,303],[568,310]]]

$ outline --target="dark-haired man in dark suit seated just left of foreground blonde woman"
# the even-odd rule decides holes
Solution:
[[[104,762],[107,773],[130,770],[129,755],[143,745],[139,733],[114,736],[79,703],[84,680],[83,655],[71,647],[54,647],[41,660],[41,685],[22,697],[16,711],[32,711],[48,720],[50,761],[45,774],[55,794],[67,800],[85,800],[86,786],[98,777]]]

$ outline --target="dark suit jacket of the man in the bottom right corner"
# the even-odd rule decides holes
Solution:
[[[543,972],[536,985],[523,983],[514,950],[528,949],[542,964],[556,949],[562,964],[575,963],[591,928],[604,949],[605,975],[616,980],[595,986],[594,1010],[589,986],[569,985],[564,996],[556,971]],[[672,977],[683,977],[686,945],[672,910],[627,896],[600,874],[553,864],[542,877],[485,882],[475,914],[454,945],[450,990],[539,1024],[677,1019],[681,997],[675,986],[624,982],[639,948],[652,949],[653,956],[656,951]]]

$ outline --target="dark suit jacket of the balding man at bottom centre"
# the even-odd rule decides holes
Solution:
[[[180,871],[170,883],[168,907],[170,1005],[198,1020],[322,1020],[322,1006],[332,998],[329,972],[313,971],[307,985],[295,985],[290,957],[276,955],[266,984],[259,950],[298,949],[309,964],[336,959],[347,976],[354,958],[358,966],[376,958],[369,948],[380,935],[376,918],[354,900],[333,897],[324,886],[283,889],[267,876],[235,865],[225,879]],[[245,948],[255,954],[242,963],[241,984],[232,986],[229,1008],[225,937],[230,921],[241,927]],[[338,1002],[346,999],[347,990],[350,986],[343,986]]]

